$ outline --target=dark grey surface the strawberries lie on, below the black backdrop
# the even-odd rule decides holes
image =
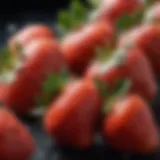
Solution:
[[[54,17],[52,13],[29,13],[13,15],[10,19],[5,18],[5,23],[0,25],[0,42],[4,44],[8,36],[28,23],[41,22],[54,26]],[[160,125],[160,99],[158,97],[152,107]],[[95,137],[93,146],[86,151],[58,147],[54,140],[51,140],[44,132],[41,119],[27,117],[22,121],[29,127],[37,143],[36,152],[31,160],[160,160],[160,151],[150,155],[119,153],[109,145],[105,145],[100,136]]]

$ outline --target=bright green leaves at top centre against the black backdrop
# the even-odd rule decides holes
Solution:
[[[62,35],[80,28],[86,22],[93,21],[99,3],[99,0],[87,0],[86,3],[81,0],[71,0],[69,8],[58,14],[58,28]]]

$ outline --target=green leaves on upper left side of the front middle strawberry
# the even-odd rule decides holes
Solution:
[[[68,82],[68,72],[62,70],[60,73],[52,73],[42,84],[42,92],[36,97],[36,105],[46,106],[61,91],[63,86]]]

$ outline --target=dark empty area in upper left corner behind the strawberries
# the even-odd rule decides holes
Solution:
[[[69,3],[70,0],[1,0],[0,44],[11,35],[10,25],[17,30],[28,23],[45,23],[54,26],[56,13],[62,8],[67,8]]]

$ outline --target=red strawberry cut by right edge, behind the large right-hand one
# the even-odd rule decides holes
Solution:
[[[132,38],[131,38],[132,37]],[[131,41],[129,41],[131,39]],[[139,26],[124,34],[119,45],[135,44],[142,49],[149,59],[157,77],[160,75],[160,24],[146,24]]]

